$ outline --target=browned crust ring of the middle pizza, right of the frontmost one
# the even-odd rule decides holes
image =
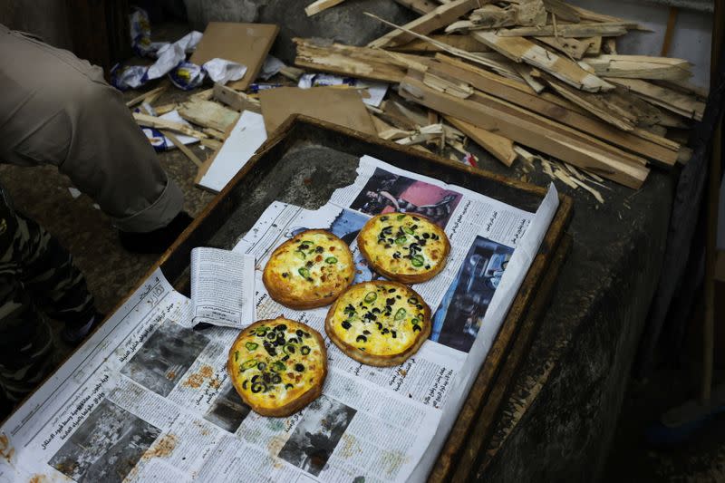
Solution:
[[[341,317],[340,313],[338,313],[338,309],[343,307],[346,304],[353,304],[354,306],[359,306],[358,303],[360,302],[360,298],[355,298],[354,301],[351,301],[346,295],[350,293],[351,291],[361,292],[362,294],[372,291],[373,287],[377,287],[379,285],[385,285],[387,287],[394,287],[397,290],[400,290],[401,293],[404,293],[407,298],[410,298],[411,296],[417,297],[418,301],[420,302],[420,305],[422,305],[422,309],[420,311],[423,314],[423,320],[421,321],[421,330],[420,332],[415,332],[415,339],[413,343],[411,343],[408,347],[406,347],[403,351],[400,353],[391,353],[391,354],[372,354],[372,353],[366,353],[364,351],[361,351],[358,349],[358,347],[355,347],[351,343],[347,343],[343,340],[343,338],[337,333],[337,330],[335,328],[336,324],[341,324],[342,321],[346,317]],[[408,360],[411,355],[414,353],[417,353],[420,349],[420,346],[428,339],[430,336],[430,307],[428,304],[425,303],[425,301],[418,295],[411,287],[407,285],[402,285],[398,282],[391,282],[391,281],[375,281],[375,282],[364,282],[362,284],[353,285],[350,288],[348,288],[343,294],[341,294],[337,300],[335,300],[334,304],[330,307],[330,310],[327,312],[327,317],[324,320],[324,332],[327,333],[327,336],[330,337],[330,340],[333,341],[333,343],[343,352],[345,355],[350,357],[351,359],[362,362],[363,364],[372,365],[376,367],[390,367],[395,365],[400,365],[402,362],[405,362]]]

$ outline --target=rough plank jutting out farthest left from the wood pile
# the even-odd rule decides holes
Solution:
[[[410,63],[421,60],[419,56],[408,53],[398,53],[400,57],[392,57],[378,49],[342,43],[325,44],[301,38],[293,41],[297,45],[295,65],[373,81],[401,82]]]

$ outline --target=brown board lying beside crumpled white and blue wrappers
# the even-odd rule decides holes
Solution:
[[[209,22],[191,62],[201,65],[218,57],[247,66],[241,80],[227,84],[237,91],[245,91],[255,81],[278,32],[279,26],[275,24]]]

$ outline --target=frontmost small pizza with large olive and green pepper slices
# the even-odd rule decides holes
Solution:
[[[317,399],[327,376],[320,333],[283,317],[244,329],[229,350],[227,372],[242,400],[262,416],[289,416]]]

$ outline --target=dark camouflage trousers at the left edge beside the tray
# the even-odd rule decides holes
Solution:
[[[94,311],[71,255],[0,187],[0,399],[20,401],[59,362],[43,314],[84,324]]]

